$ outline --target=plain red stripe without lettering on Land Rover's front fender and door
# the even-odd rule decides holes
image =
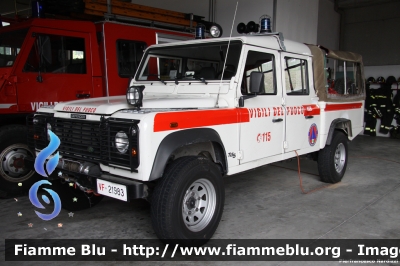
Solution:
[[[249,121],[250,115],[247,108],[167,112],[155,115],[154,132]]]

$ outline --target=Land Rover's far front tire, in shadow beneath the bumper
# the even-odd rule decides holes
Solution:
[[[51,180],[49,188],[57,192],[61,200],[61,207],[68,211],[81,211],[97,205],[103,196],[86,193],[75,187],[73,183]]]

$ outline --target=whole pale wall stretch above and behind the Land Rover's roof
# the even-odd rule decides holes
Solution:
[[[236,3],[238,10],[232,36],[239,36],[236,27],[240,22],[259,23],[262,15],[271,16],[273,21],[273,0],[216,0],[215,22],[223,28],[223,37],[228,37],[232,28]],[[330,0],[277,0],[276,31],[283,33],[285,39],[305,43],[318,43],[337,49],[339,39],[339,18]],[[321,8],[319,3],[321,2]],[[183,13],[193,13],[209,20],[208,0],[132,0],[132,3],[154,6]],[[318,13],[321,12],[319,16]],[[320,26],[319,26],[320,25]],[[325,35],[329,30],[329,35]]]

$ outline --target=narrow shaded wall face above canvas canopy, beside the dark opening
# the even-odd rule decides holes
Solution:
[[[330,0],[319,0],[317,43],[332,50],[339,50],[340,15]]]

